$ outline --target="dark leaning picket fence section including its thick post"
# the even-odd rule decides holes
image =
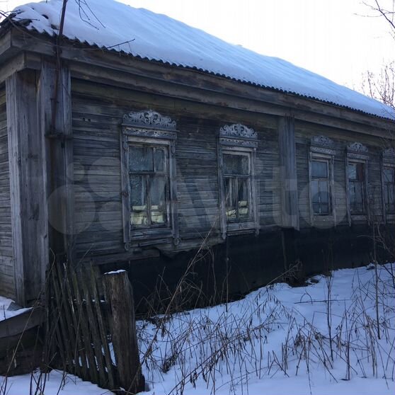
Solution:
[[[127,272],[103,275],[104,287],[96,277],[91,267],[77,272],[66,263],[52,266],[45,360],[106,389],[144,391]]]

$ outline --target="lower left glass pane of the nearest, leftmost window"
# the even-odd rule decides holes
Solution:
[[[130,177],[130,222],[132,225],[147,225],[147,178],[146,176]]]

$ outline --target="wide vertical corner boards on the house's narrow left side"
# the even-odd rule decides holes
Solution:
[[[48,261],[46,156],[35,71],[9,76],[6,98],[16,295],[24,305],[40,294]]]

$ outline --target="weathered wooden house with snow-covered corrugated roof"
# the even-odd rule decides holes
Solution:
[[[394,110],[166,16],[78,4],[1,23],[1,294],[37,298],[55,259],[128,268],[141,297],[193,257],[190,287],[219,297],[371,259],[395,220]]]

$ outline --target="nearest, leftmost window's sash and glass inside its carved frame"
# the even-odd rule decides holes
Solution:
[[[163,227],[168,224],[168,149],[129,147],[130,224]]]

